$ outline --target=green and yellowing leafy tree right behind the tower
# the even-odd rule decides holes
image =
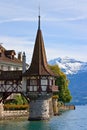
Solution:
[[[58,65],[53,65],[53,66],[49,65],[49,68],[54,72],[54,74],[57,75],[55,84],[59,88],[58,100],[62,101],[63,103],[70,102],[72,99],[72,96],[68,88],[69,81],[67,79],[67,76],[60,70]]]

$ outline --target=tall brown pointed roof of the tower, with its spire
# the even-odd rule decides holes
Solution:
[[[32,62],[29,69],[25,72],[25,76],[54,76],[54,73],[48,68],[46,52],[42,32],[40,29],[40,16],[38,20],[38,30],[35,40]]]

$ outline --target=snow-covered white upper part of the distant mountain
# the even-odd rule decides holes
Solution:
[[[75,60],[73,58],[56,58],[49,61],[49,64],[57,64],[65,74],[76,74],[87,70],[87,62]]]

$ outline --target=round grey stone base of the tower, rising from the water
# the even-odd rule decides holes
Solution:
[[[53,114],[52,99],[37,99],[30,102],[29,120],[46,120]],[[51,108],[51,109],[50,109]]]

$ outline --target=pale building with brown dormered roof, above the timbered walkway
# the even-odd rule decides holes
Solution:
[[[6,50],[0,44],[0,70],[22,70],[22,53],[20,52],[18,54],[18,58],[16,58],[15,55],[14,50]]]

